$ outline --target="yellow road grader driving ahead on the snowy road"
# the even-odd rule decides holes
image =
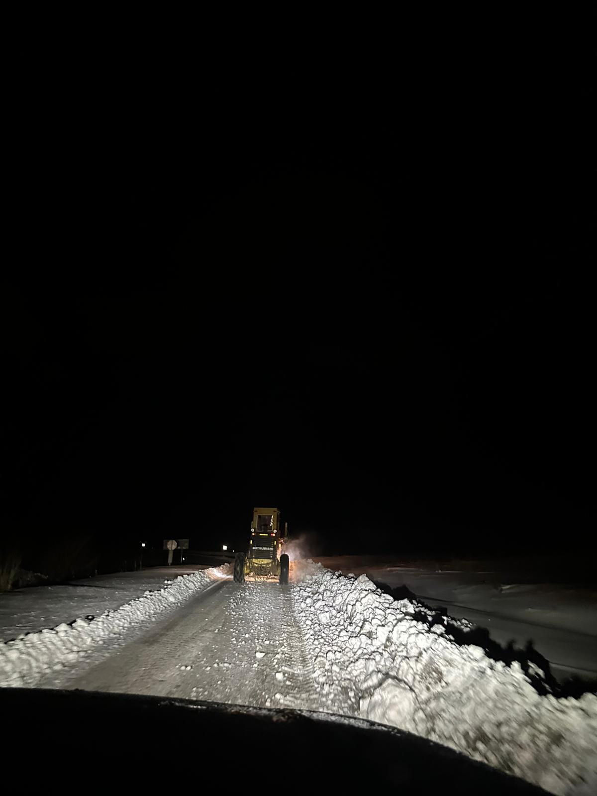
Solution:
[[[237,552],[234,559],[235,582],[244,583],[248,577],[288,583],[288,556],[282,552],[286,539],[287,526],[282,525],[278,509],[253,509],[248,551]]]

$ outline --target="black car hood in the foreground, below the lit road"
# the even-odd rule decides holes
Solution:
[[[365,720],[159,696],[0,689],[5,775],[21,785],[320,793],[543,794],[437,743]],[[255,749],[259,766],[255,767]]]

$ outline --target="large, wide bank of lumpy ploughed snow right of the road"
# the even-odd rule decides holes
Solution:
[[[423,607],[365,575],[319,567],[293,592],[328,709],[414,732],[555,794],[597,792],[594,694],[540,696],[520,665],[456,644],[449,624],[420,621]]]

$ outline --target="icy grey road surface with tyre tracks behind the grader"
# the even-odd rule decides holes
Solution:
[[[222,582],[68,687],[324,709],[291,588]]]

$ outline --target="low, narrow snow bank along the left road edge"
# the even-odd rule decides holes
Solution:
[[[142,622],[178,607],[225,577],[224,568],[205,569],[166,581],[142,597],[97,618],[79,618],[51,630],[28,633],[0,644],[0,686],[39,685],[45,675],[80,661],[99,645],[122,637]]]

